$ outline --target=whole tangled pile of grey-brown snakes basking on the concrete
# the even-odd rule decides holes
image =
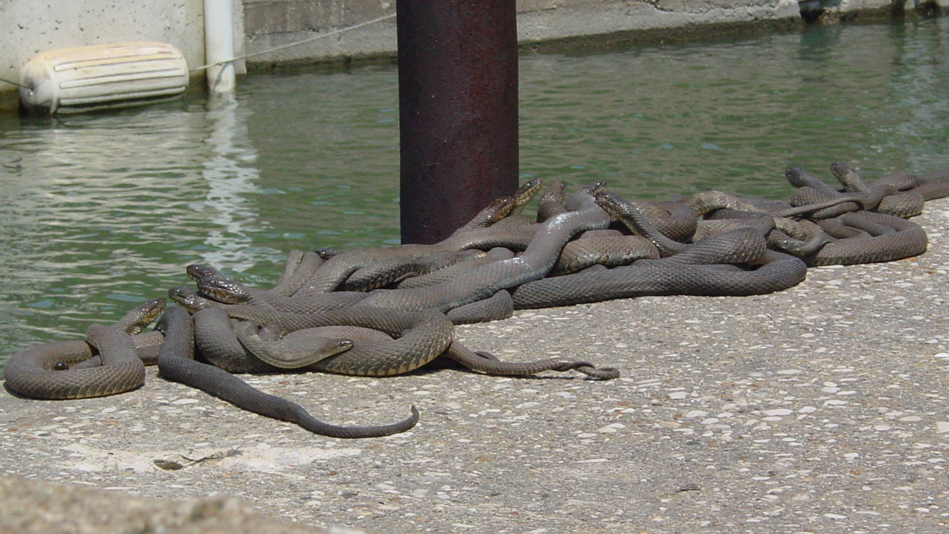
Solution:
[[[474,352],[453,339],[454,325],[610,298],[761,295],[797,284],[809,266],[925,252],[925,232],[907,219],[925,200],[949,196],[949,171],[867,183],[844,163],[830,170],[840,188],[800,168],[786,171],[796,188],[787,201],[717,191],[624,200],[604,182],[569,194],[554,182],[539,196],[536,218],[522,213],[541,190],[530,181],[436,244],[292,251],[270,290],[189,265],[195,284],[168,292],[177,305],[166,309],[156,298],[116,324],[90,326],[84,340],[15,353],[6,385],[39,399],[109,395],[140,387],[144,366],[157,363],[161,377],[237,407],[355,438],[411,429],[419,411],[386,425],[331,425],[233,373],[387,376],[443,357],[476,372],[574,371],[608,380],[620,372],[567,358],[514,363]]]

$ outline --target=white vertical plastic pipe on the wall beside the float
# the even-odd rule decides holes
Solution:
[[[234,57],[232,13],[232,0],[204,0],[204,54],[208,64]],[[208,67],[208,90],[212,96],[233,93],[233,62]]]

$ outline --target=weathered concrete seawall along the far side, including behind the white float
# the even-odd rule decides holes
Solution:
[[[99,6],[98,4],[102,4]],[[949,0],[519,0],[522,47],[556,50],[635,42],[668,42],[712,35],[786,30],[803,22],[835,24],[901,16],[938,16]],[[248,68],[273,70],[389,61],[396,53],[395,1],[244,0],[235,49]],[[100,43],[156,40],[181,49],[189,66],[203,63],[203,8],[137,0],[121,7],[104,0],[76,7],[51,1],[0,3],[0,79],[16,83],[19,69],[40,51]],[[359,29],[330,32],[389,17]],[[238,32],[240,33],[240,32]],[[317,39],[314,39],[317,38]],[[267,52],[301,41],[305,44]],[[0,111],[17,107],[16,86],[0,82]]]

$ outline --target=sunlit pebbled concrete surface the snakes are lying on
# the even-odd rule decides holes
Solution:
[[[227,495],[367,533],[941,533],[949,523],[949,200],[921,257],[812,269],[750,297],[656,296],[457,329],[503,359],[623,370],[247,376],[346,441],[165,382],[111,397],[0,392],[3,473],[175,500]],[[6,509],[0,503],[0,509]]]

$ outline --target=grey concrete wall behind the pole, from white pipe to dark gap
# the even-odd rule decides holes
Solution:
[[[286,46],[318,32],[395,14],[378,0],[244,0],[248,53]],[[519,0],[522,43],[649,29],[799,19],[797,0]],[[294,67],[314,62],[394,56],[395,19],[293,48],[254,56],[248,67]]]

